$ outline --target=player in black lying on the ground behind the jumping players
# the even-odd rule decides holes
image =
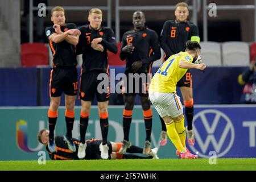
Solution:
[[[77,151],[72,152],[68,149],[68,144],[65,142],[65,136],[56,136],[55,137],[55,144],[56,144],[56,151],[50,152],[48,148],[49,142],[49,130],[43,129],[40,130],[38,133],[38,140],[40,143],[46,146],[46,150],[49,152],[49,157],[52,160],[79,160],[77,156]],[[86,146],[86,156],[84,159],[101,159],[101,152],[99,146],[102,142],[100,139],[91,139],[85,141]],[[79,140],[73,138],[73,143],[76,146],[76,149],[79,147]],[[121,148],[122,143],[115,143],[115,142],[108,142],[109,147],[109,158],[108,159],[159,159],[157,152],[158,148],[153,148],[149,155],[147,156],[138,156],[133,154],[119,154],[117,151]],[[127,149],[129,153],[139,153],[142,154],[143,148],[139,148],[137,146],[131,146]]]

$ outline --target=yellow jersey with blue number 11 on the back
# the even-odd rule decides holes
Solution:
[[[193,57],[187,52],[179,52],[169,57],[153,76],[149,91],[176,92],[177,82],[188,70],[179,67],[181,60],[192,63]]]

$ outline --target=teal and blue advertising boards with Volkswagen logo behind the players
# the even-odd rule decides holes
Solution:
[[[36,138],[39,130],[47,127],[47,107],[0,107],[0,160],[37,160],[39,151],[46,151]],[[121,142],[123,106],[109,107],[108,140]],[[209,154],[217,158],[255,158],[255,119],[256,105],[196,105],[194,131],[196,144],[189,148],[201,158]],[[55,135],[65,134],[64,107],[59,110]],[[75,109],[73,137],[80,138],[80,107]],[[161,125],[156,110],[153,109],[151,142],[159,147]],[[142,109],[135,106],[131,123],[130,140],[143,147],[146,132]],[[92,106],[86,139],[101,138],[98,109]],[[175,148],[168,139],[164,147],[159,148],[159,158],[176,158]],[[210,153],[210,151],[212,151]],[[42,153],[41,153],[42,154]],[[48,153],[46,153],[47,159]]]

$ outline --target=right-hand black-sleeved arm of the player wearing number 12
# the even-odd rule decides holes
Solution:
[[[158,35],[156,34],[156,32],[152,32],[151,34],[150,46],[152,48],[153,53],[150,55],[150,57],[143,59],[142,63],[151,63],[153,61],[159,60],[161,57]]]

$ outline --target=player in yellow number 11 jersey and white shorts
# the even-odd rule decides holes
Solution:
[[[150,101],[166,123],[168,137],[177,148],[176,154],[186,159],[196,159],[198,156],[191,154],[185,146],[183,107],[176,95],[176,84],[187,69],[206,68],[204,63],[195,64],[200,49],[199,43],[188,41],[185,52],[172,55],[161,65],[151,80],[148,92]]]

